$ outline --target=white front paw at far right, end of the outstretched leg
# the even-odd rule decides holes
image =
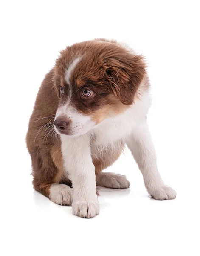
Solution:
[[[154,189],[147,189],[152,198],[156,200],[168,200],[176,198],[176,192],[169,186],[156,187]]]

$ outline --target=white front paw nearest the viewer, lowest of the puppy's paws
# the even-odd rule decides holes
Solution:
[[[77,202],[73,204],[73,214],[82,218],[93,218],[99,214],[99,203],[93,201]]]

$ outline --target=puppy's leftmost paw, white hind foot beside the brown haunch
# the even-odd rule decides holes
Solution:
[[[73,193],[72,189],[64,184],[53,184],[50,188],[49,199],[56,204],[71,205]]]

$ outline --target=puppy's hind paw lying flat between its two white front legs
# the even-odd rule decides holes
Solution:
[[[113,172],[100,172],[96,175],[96,185],[111,189],[127,189],[130,182],[126,176]]]

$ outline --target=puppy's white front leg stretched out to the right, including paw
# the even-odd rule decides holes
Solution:
[[[134,128],[127,138],[127,146],[138,163],[149,194],[157,200],[174,199],[176,192],[164,184],[158,172],[155,148],[146,118],[144,118],[138,127]]]

